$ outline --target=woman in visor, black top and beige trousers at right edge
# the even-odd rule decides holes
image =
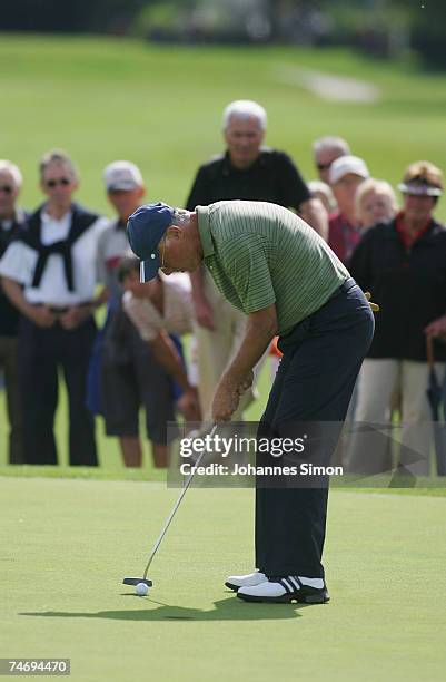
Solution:
[[[426,475],[432,436],[426,423],[430,420],[426,335],[439,333],[446,311],[446,230],[433,216],[443,193],[443,174],[428,162],[414,163],[399,189],[403,210],[393,221],[369,228],[350,262],[353,276],[381,308],[360,372],[357,419],[386,422],[390,396],[399,390],[402,441],[417,454],[417,461],[402,464],[413,474]],[[438,341],[435,357],[442,376],[446,347]],[[368,452],[366,461],[359,457],[354,449],[351,466],[371,472],[392,465],[386,448]]]

